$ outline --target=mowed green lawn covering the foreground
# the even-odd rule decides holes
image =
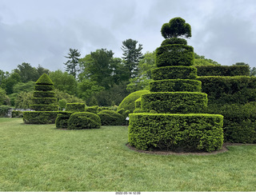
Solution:
[[[256,146],[156,155],[126,147],[127,126],[62,130],[0,118],[0,191],[255,191]]]

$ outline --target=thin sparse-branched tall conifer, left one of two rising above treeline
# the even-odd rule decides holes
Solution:
[[[80,55],[81,54],[78,52],[78,50],[70,49],[68,56],[65,56],[65,58],[69,59],[66,63],[64,63],[64,65],[66,65],[66,72],[73,75],[74,78],[76,78],[78,72]]]

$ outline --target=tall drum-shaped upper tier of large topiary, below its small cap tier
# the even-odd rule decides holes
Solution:
[[[193,66],[194,48],[181,44],[164,45],[156,49],[156,66]]]

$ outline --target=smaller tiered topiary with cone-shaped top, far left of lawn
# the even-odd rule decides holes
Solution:
[[[34,86],[34,111],[23,112],[23,121],[31,124],[54,123],[58,114],[57,99],[54,98],[54,83],[47,74],[42,74]]]

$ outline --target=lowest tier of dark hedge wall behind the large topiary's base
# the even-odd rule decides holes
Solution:
[[[256,102],[246,105],[211,104],[207,113],[220,113],[224,116],[224,141],[234,143],[256,143]]]

